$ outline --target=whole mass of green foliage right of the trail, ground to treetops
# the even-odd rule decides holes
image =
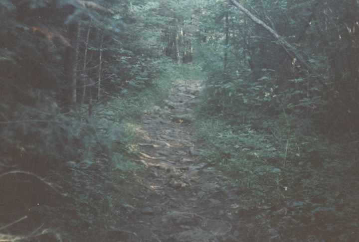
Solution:
[[[196,112],[196,131],[208,145],[203,159],[218,167],[213,175],[219,181],[254,199],[263,224],[279,229],[281,241],[355,241],[358,182],[349,174],[358,172],[358,133],[351,124],[358,116],[349,87],[358,84],[358,75],[343,63],[358,63],[348,52],[358,46],[348,44],[357,33],[344,33],[340,21],[353,26],[357,17],[344,5],[358,16],[358,3],[243,4],[303,54],[314,72],[230,7],[226,46],[225,9],[207,9],[217,18],[202,16],[206,41],[197,42],[195,59],[207,74]]]

